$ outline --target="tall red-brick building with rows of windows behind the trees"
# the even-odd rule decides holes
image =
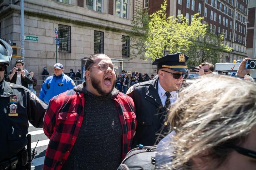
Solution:
[[[168,0],[167,16],[183,15],[191,22],[193,15],[200,13],[214,34],[225,34],[225,44],[234,49],[231,53],[220,53],[219,62],[233,62],[247,57],[246,29],[248,0]],[[164,0],[143,0],[149,13],[160,10]]]

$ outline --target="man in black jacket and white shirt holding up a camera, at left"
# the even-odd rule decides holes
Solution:
[[[29,84],[33,83],[33,80],[31,75],[27,71],[23,70],[23,67],[24,62],[22,60],[16,60],[15,67],[13,67],[13,69],[7,74],[7,81],[28,88]],[[19,69],[21,71],[18,71]]]

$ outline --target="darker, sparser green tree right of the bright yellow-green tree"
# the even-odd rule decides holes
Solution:
[[[219,60],[219,52],[229,52],[231,47],[224,45],[223,33],[218,36],[207,29],[205,35],[202,35],[189,47],[188,66],[198,66],[203,62],[210,62],[215,65]]]

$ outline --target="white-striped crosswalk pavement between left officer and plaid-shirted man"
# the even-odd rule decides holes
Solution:
[[[47,145],[49,143],[49,139],[45,136],[43,133],[43,128],[35,128],[31,124],[29,124],[29,134],[31,134],[31,148],[34,148],[37,144],[37,141],[39,139],[39,142],[37,144],[37,155],[35,156],[32,164],[31,164],[31,170],[41,170],[43,168],[43,161],[45,159],[45,152]]]

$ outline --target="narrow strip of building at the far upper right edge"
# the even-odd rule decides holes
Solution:
[[[248,57],[256,59],[256,1],[250,0],[248,5],[248,20],[250,23],[247,26],[247,54]]]

